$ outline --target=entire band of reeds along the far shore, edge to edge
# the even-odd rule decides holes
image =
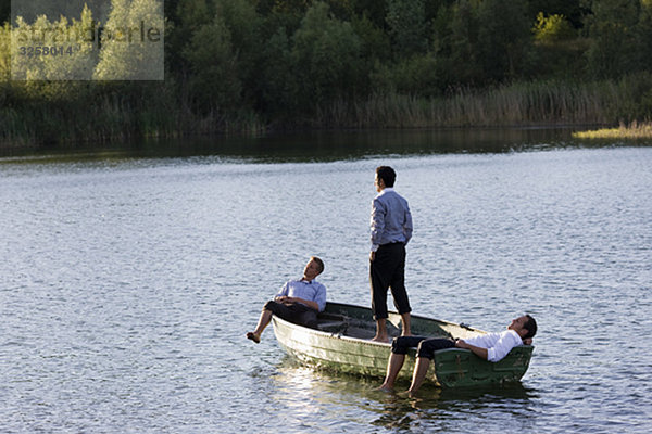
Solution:
[[[652,92],[651,75],[619,81],[531,81],[477,90],[460,88],[438,98],[375,92],[341,97],[289,123],[250,108],[197,113],[164,82],[48,85],[0,84],[0,146],[109,142],[197,135],[260,136],[271,129],[441,128],[614,125],[644,118],[640,94]],[[22,87],[21,87],[22,86]],[[57,85],[59,86],[59,85]],[[271,120],[271,122],[269,122]],[[649,127],[618,129],[647,137]]]

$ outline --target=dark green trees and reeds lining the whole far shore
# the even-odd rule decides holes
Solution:
[[[163,81],[12,80],[7,3],[4,143],[652,117],[652,0],[166,0]]]

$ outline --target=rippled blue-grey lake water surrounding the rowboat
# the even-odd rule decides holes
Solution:
[[[652,148],[569,130],[351,132],[0,158],[3,433],[652,430]],[[539,323],[522,382],[422,397],[244,332],[308,256],[369,303],[374,169],[414,314]],[[406,384],[399,384],[399,390]]]

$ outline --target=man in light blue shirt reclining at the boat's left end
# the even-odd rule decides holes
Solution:
[[[255,330],[248,332],[247,339],[260,343],[263,330],[272,321],[272,315],[297,324],[316,328],[317,312],[326,307],[326,286],[314,280],[322,271],[324,261],[311,256],[303,270],[303,278],[286,282],[274,301],[265,304]]]

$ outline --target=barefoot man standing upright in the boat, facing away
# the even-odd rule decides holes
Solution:
[[[387,289],[403,319],[403,336],[410,332],[410,301],[405,291],[405,244],[412,238],[412,215],[408,201],[393,189],[396,171],[389,166],[376,168],[376,191],[372,203],[372,252],[369,280],[372,311],[376,320],[373,341],[388,342]]]

